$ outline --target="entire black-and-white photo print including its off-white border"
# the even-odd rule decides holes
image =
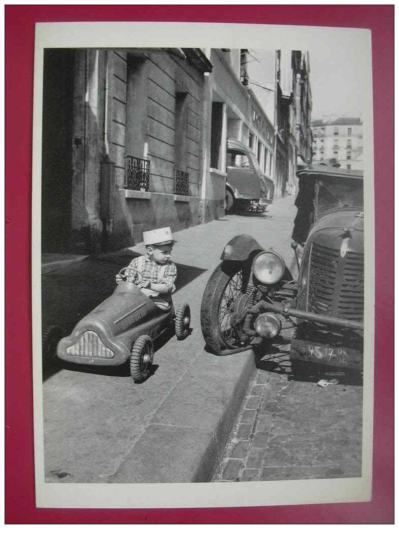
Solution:
[[[370,32],[243,26],[36,26],[37,506],[370,498]]]

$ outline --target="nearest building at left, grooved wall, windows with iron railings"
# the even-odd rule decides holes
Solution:
[[[46,50],[42,250],[131,246],[199,222],[199,49]]]

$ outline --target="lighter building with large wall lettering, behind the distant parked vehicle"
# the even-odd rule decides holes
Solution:
[[[202,222],[225,214],[226,145],[234,138],[256,154],[267,178],[274,172],[274,127],[241,76],[240,49],[206,49],[212,72],[205,75]]]

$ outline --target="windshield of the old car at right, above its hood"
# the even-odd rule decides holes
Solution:
[[[363,208],[363,182],[358,179],[329,178],[317,180],[316,216],[333,208]]]

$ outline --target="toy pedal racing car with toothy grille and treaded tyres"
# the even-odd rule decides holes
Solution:
[[[137,271],[142,278],[142,273],[131,267],[119,274],[127,269]],[[172,325],[179,340],[189,332],[188,304],[180,305],[176,312],[171,299],[159,304],[163,308],[133,282],[122,281],[108,299],[59,341],[57,356],[66,362],[86,365],[121,365],[129,361],[133,380],[146,380],[154,358],[153,341]]]

